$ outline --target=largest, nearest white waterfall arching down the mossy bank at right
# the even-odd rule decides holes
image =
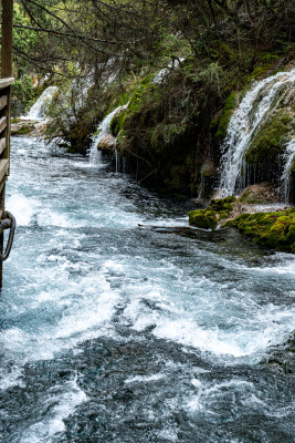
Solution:
[[[295,70],[292,70],[254,82],[234,111],[222,146],[219,197],[226,197],[236,190],[242,190],[239,176],[242,168],[245,169],[244,154],[250,142],[265,121],[267,113],[277,106],[280,94],[292,87],[294,80]]]

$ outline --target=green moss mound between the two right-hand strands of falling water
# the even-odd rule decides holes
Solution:
[[[285,141],[294,127],[294,120],[286,112],[277,112],[265,121],[252,140],[246,154],[247,164],[276,159],[285,147]]]

